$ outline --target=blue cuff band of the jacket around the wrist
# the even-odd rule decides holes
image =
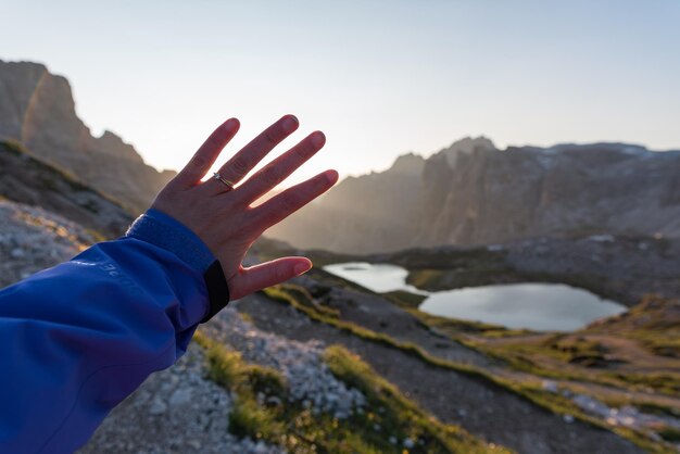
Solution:
[[[201,239],[185,225],[154,209],[149,209],[125,234],[173,252],[192,268],[204,274],[215,256]]]

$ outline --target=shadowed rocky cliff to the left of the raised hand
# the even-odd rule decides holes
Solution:
[[[113,133],[92,137],[76,115],[68,81],[37,63],[0,61],[0,139],[18,141],[131,211],[147,209],[174,175],[146,165]]]

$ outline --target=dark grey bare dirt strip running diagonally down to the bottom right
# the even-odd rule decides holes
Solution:
[[[641,453],[622,438],[582,423],[565,423],[525,399],[482,379],[435,367],[399,349],[365,341],[312,321],[262,294],[236,303],[255,325],[289,339],[339,343],[369,363],[405,395],[445,423],[520,453]]]

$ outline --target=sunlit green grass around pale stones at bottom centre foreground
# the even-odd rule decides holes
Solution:
[[[327,349],[324,360],[333,375],[367,398],[367,409],[357,409],[345,419],[314,414],[301,403],[290,402],[286,380],[278,371],[247,364],[238,352],[201,332],[194,339],[207,349],[207,377],[236,395],[229,431],[238,437],[265,440],[294,453],[508,452],[427,416],[342,348]],[[395,437],[396,444],[390,437]],[[403,445],[406,439],[413,442],[407,442],[411,447]]]

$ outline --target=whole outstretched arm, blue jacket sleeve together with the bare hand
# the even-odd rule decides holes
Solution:
[[[264,156],[290,134],[285,118],[237,155],[254,165],[253,154]],[[262,210],[240,197],[229,202],[241,188],[225,192],[219,181],[201,182],[193,165],[206,164],[206,153],[216,157],[222,147],[215,147],[236,134],[234,127],[238,123],[211,136],[128,236],[0,291],[0,452],[72,452],[149,374],[172,365],[210,312],[204,273],[215,258],[234,299],[308,269],[301,257],[250,269],[241,260],[267,222],[285,217],[335,179],[313,179]],[[285,156],[320,149],[305,140],[306,154],[284,154],[267,175],[285,178],[297,165],[284,166],[301,162]],[[201,166],[203,173],[207,167]],[[185,185],[189,174],[197,178]],[[172,236],[177,237],[168,243]]]

